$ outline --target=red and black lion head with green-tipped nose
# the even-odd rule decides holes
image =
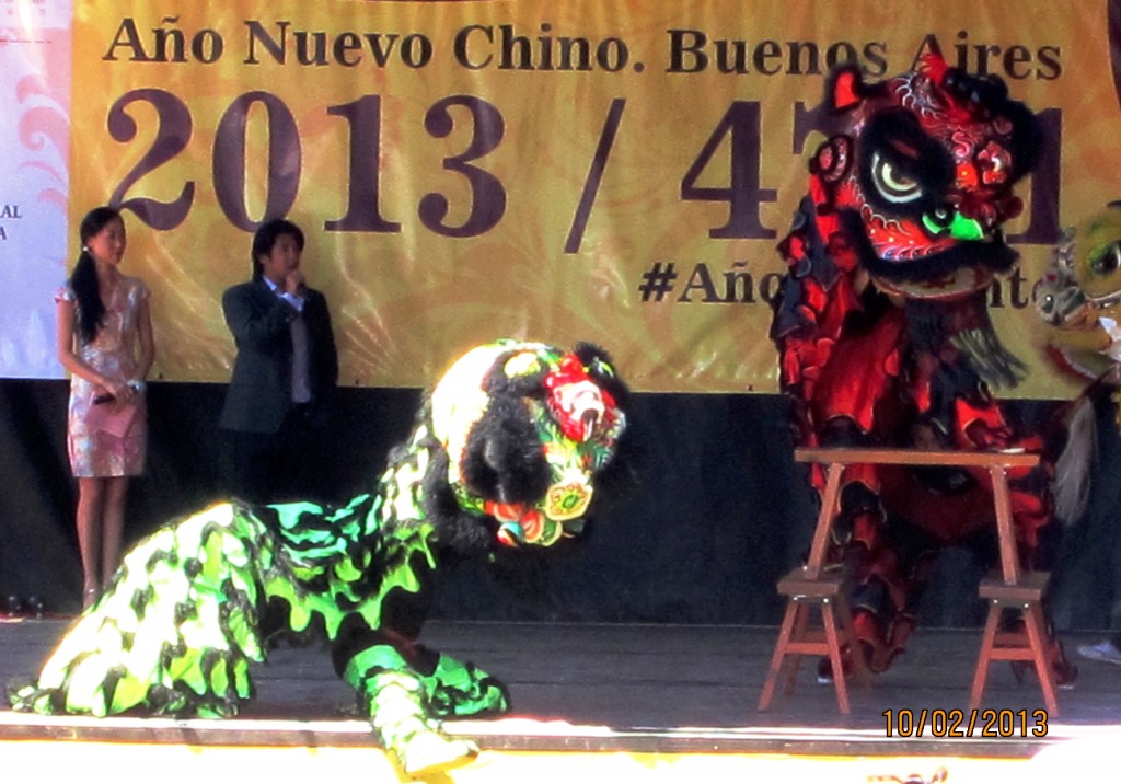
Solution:
[[[825,103],[832,135],[810,194],[882,290],[960,296],[1012,266],[1001,225],[1022,210],[1012,186],[1036,163],[1040,131],[1002,81],[932,55],[877,84],[845,66]]]

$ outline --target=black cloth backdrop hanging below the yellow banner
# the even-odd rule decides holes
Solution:
[[[63,612],[77,608],[81,588],[67,388],[0,381],[0,600],[37,596]],[[130,542],[222,498],[223,393],[222,385],[151,385],[149,470],[131,486]],[[408,434],[419,397],[416,389],[340,390],[337,459],[325,468],[339,499],[371,487]],[[1057,405],[1019,402],[1010,413],[1041,422]],[[779,396],[636,395],[631,426],[643,458],[631,495],[574,547],[501,568],[457,568],[444,578],[437,617],[777,624],[775,581],[803,556],[816,515],[787,422]],[[1100,422],[1097,476],[1112,479],[1121,476],[1121,448],[1105,405]],[[1121,627],[1119,492],[1119,482],[1097,482],[1084,518],[1047,538],[1063,629]],[[920,624],[976,625],[980,571],[971,553],[947,550]]]

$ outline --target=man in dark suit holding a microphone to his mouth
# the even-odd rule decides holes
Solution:
[[[319,455],[339,358],[327,301],[299,269],[303,250],[295,223],[263,223],[253,279],[222,295],[238,356],[220,424],[230,434],[229,489],[247,501],[328,500]]]

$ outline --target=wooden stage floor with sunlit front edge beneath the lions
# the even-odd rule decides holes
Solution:
[[[0,619],[0,681],[33,674],[65,626],[65,620]],[[898,725],[900,711],[910,711],[917,720],[924,710],[928,716],[966,710],[980,630],[920,629],[888,673],[876,676],[868,689],[851,690],[849,717],[837,710],[833,688],[816,683],[812,660],[804,660],[793,695],[779,691],[769,711],[757,710],[776,638],[773,627],[443,621],[429,624],[423,642],[475,662],[510,686],[512,716],[447,725],[453,734],[476,738],[487,749],[484,756],[600,755],[594,769],[601,771],[603,755],[611,754],[665,759],[716,755],[725,764],[748,757],[891,757],[914,760],[916,769],[891,768],[882,773],[882,781],[907,782],[907,776],[917,775],[914,781],[920,782],[934,777],[943,765],[938,760],[945,759],[958,760],[958,767],[970,758],[979,764],[1027,762],[1045,749],[1071,744],[1108,743],[1111,750],[1121,750],[1121,666],[1080,660],[1074,653],[1094,635],[1063,635],[1081,675],[1073,690],[1059,692],[1062,714],[1047,718],[1041,737],[1031,731],[1031,716],[1043,709],[1034,676],[1019,684],[1007,663],[994,663],[983,708],[1004,711],[1012,732],[991,738],[980,737],[980,721],[973,738],[934,737],[937,730],[930,726],[921,738],[914,732],[900,737]],[[335,677],[326,651],[278,648],[267,664],[254,667],[253,675],[257,699],[230,720],[96,720],[0,711],[0,760],[12,758],[13,748],[62,750],[75,743],[196,749],[374,747],[367,723],[350,712],[351,692]],[[893,716],[890,735],[886,711]],[[1027,732],[1020,711],[1028,717]],[[1025,769],[1016,781],[1027,781]],[[587,778],[580,772],[571,775]],[[839,778],[834,772],[812,771],[807,775],[813,781],[864,782],[880,781],[881,774]],[[696,776],[723,778],[724,774],[692,772],[688,780],[700,781]],[[500,778],[492,775],[485,781]],[[454,781],[471,778],[457,775]],[[970,781],[965,773],[947,780],[948,784],[963,781]]]

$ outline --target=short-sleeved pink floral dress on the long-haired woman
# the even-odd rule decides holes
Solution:
[[[121,381],[137,377],[140,303],[149,296],[139,278],[121,276],[106,303],[105,316],[92,342],[78,342],[77,354],[102,376]],[[76,303],[70,286],[55,302]],[[143,473],[148,453],[148,412],[142,394],[133,404],[94,403],[99,387],[71,378],[66,448],[75,477],[133,477]]]

